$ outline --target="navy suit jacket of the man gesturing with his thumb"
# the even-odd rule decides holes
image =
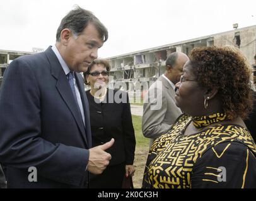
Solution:
[[[85,128],[64,70],[49,47],[13,60],[0,94],[0,162],[8,187],[86,187],[91,147],[90,114],[83,79],[75,75]],[[37,168],[29,182],[28,168]]]

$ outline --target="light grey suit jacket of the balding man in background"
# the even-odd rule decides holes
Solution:
[[[149,87],[146,100],[148,103],[143,106],[142,129],[144,136],[151,138],[151,147],[154,139],[165,134],[182,111],[175,104],[175,90],[163,75]],[[157,104],[160,103],[159,108]]]

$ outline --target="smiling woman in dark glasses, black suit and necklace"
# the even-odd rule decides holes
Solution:
[[[131,107],[126,92],[107,88],[110,65],[107,60],[96,59],[84,73],[90,104],[93,146],[115,139],[107,150],[112,160],[101,175],[90,175],[90,188],[122,188],[124,176],[134,175],[136,139],[132,126]]]

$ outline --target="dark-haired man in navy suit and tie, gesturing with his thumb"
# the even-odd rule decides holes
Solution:
[[[78,7],[62,19],[54,46],[7,68],[0,94],[0,162],[9,188],[86,188],[88,171],[105,170],[113,139],[91,148],[79,72],[86,72],[107,38],[98,18]]]

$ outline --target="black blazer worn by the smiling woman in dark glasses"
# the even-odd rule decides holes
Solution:
[[[90,104],[93,146],[107,143],[114,138],[115,143],[107,150],[112,155],[110,165],[122,162],[125,162],[125,165],[132,165],[136,139],[128,94],[120,90],[108,89],[103,103],[95,102],[90,90],[86,91],[86,95]]]

